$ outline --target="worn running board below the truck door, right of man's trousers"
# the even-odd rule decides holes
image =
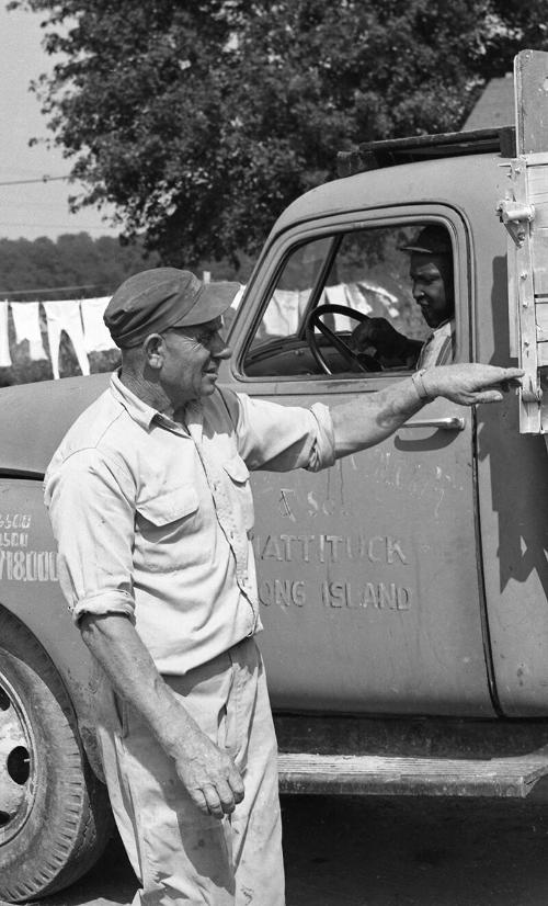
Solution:
[[[525,799],[548,774],[548,748],[483,760],[281,752],[278,773],[282,793]]]

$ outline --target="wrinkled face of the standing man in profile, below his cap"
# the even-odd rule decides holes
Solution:
[[[220,336],[221,327],[222,319],[216,318],[195,327],[174,327],[163,333],[162,383],[179,405],[214,393],[220,362],[231,354]]]

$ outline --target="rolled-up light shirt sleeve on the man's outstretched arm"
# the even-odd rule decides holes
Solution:
[[[333,465],[333,424],[322,403],[307,409],[253,399],[246,394],[237,394],[236,398],[239,452],[248,468],[319,472]]]

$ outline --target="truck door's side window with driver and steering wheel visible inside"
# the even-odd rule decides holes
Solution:
[[[450,236],[439,224],[372,227],[300,244],[270,293],[247,349],[246,374],[363,376],[359,364],[341,354],[318,326],[307,342],[307,321],[324,305],[338,308],[318,318],[362,356],[366,371],[409,371],[424,364],[421,355],[437,355],[442,347],[444,362],[450,361],[453,269]]]

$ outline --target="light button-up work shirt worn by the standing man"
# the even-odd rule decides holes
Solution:
[[[161,673],[182,675],[261,628],[249,469],[334,462],[329,409],[217,388],[182,426],[117,374],[45,477],[59,580],[76,621],[127,614]]]

